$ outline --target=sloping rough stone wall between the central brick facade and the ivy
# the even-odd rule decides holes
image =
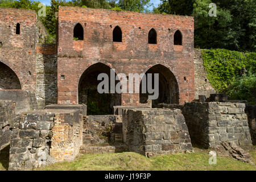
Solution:
[[[195,49],[194,56],[195,63],[195,99],[199,99],[199,95],[204,95],[207,98],[210,94],[216,93],[216,90],[210,85],[207,78],[207,72],[204,69],[204,60],[201,57],[201,50]]]

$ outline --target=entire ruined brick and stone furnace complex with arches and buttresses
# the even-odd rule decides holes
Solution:
[[[194,49],[193,17],[60,6],[56,44],[42,44],[47,32],[34,11],[0,10],[0,150],[10,145],[10,170],[73,160],[79,152],[193,151],[200,137],[193,129],[205,122],[200,108],[210,104],[192,101],[215,93]],[[110,69],[115,76],[159,73],[158,99],[98,93],[97,76]],[[218,107],[205,116],[223,128],[202,132],[202,146],[220,144],[209,137],[224,130],[225,140],[250,145],[254,110],[247,109],[248,125],[245,104],[225,105],[241,123],[237,129],[216,119]]]

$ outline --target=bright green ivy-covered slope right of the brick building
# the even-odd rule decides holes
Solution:
[[[201,49],[210,84],[229,100],[256,104],[256,52]]]

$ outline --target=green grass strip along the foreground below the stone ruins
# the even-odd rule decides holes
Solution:
[[[145,156],[134,152],[123,152],[116,154],[86,154],[80,155],[73,162],[55,163],[46,168],[39,168],[43,171],[84,171],[84,170],[239,170],[239,171],[256,171],[256,147],[250,150],[251,161],[254,164],[248,164],[233,159],[230,156],[218,156],[217,164],[210,165],[208,160],[208,150],[195,148],[195,153],[190,154],[172,154],[160,155],[154,158],[146,158]],[[7,152],[7,154],[6,154]],[[0,154],[0,171],[6,170],[8,167],[8,151],[1,151]]]

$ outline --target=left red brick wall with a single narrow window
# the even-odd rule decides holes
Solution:
[[[19,35],[16,35],[17,23]],[[35,11],[0,8],[0,61],[13,69],[26,90],[35,90],[36,37]]]

